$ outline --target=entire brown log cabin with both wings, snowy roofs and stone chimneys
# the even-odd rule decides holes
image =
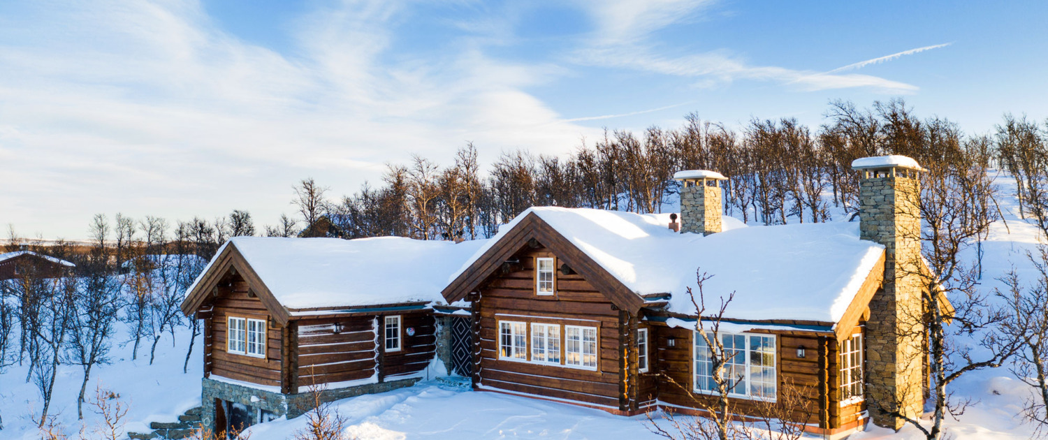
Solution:
[[[912,159],[856,160],[859,221],[746,226],[722,216],[724,179],[677,173],[678,215],[532,207],[488,240],[236,238],[189,292],[205,321],[204,420],[223,430],[432,375],[475,391],[619,415],[703,415],[715,393],[711,317],[730,349],[730,398],[803,392],[807,431],[837,438],[917,416],[926,387],[917,176]],[[697,273],[698,271],[698,273]],[[706,308],[698,310],[696,279]],[[949,312],[938,296],[937,307]]]

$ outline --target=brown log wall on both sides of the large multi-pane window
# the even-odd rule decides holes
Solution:
[[[671,405],[699,409],[696,401],[704,401],[706,404],[714,402],[714,397],[704,394],[692,393],[693,368],[692,345],[694,344],[692,329],[667,326],[652,326],[656,328],[653,335],[655,346],[656,364],[653,367],[657,371],[665,374],[673,381],[664,378],[658,380],[659,400]],[[779,398],[782,399],[784,383],[791,382],[800,388],[808,401],[810,414],[805,415],[801,411],[793,413],[793,420],[808,420],[808,423],[820,423],[821,405],[821,368],[818,359],[818,338],[814,336],[801,336],[789,334],[776,334],[778,350],[776,361],[778,364]],[[670,340],[673,339],[673,346]],[[796,349],[805,348],[805,357],[796,355]],[[832,370],[832,367],[831,367]],[[835,379],[836,376],[833,376]],[[676,382],[676,383],[674,383]],[[831,393],[832,394],[832,393]],[[736,411],[740,414],[756,414],[754,401],[743,398],[733,399]]]

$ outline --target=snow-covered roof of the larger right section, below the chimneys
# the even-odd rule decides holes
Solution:
[[[741,226],[703,237],[667,227],[669,214],[532,207],[503,225],[449,279],[455,280],[528,214],[539,216],[627,288],[671,293],[668,308],[695,314],[686,288],[696,269],[707,305],[736,292],[726,315],[739,320],[837,322],[873,270],[883,246],[859,240],[858,223]],[[696,292],[697,294],[698,292]]]

